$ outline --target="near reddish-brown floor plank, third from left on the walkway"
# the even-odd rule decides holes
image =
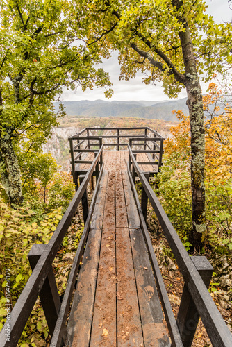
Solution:
[[[117,346],[143,346],[129,228],[116,228]]]

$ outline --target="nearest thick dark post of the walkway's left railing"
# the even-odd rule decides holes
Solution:
[[[28,253],[28,260],[31,269],[35,268],[35,265],[38,263],[38,260],[46,247],[47,244],[33,244],[31,251]],[[47,325],[49,326],[49,332],[52,336],[56,326],[58,312],[60,310],[60,296],[56,287],[56,279],[52,267],[44,281],[42,289],[40,290],[40,300],[47,320]]]

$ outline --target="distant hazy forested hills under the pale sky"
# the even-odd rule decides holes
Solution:
[[[188,114],[186,98],[174,101],[63,101],[67,116],[73,117],[139,117],[178,121],[173,110]],[[58,102],[54,103],[58,110]]]

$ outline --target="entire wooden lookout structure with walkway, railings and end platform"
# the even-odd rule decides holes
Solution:
[[[10,341],[5,323],[0,346],[18,346],[38,296],[50,347],[190,347],[199,317],[214,347],[232,346],[207,289],[213,267],[188,255],[149,185],[162,165],[163,141],[149,127],[85,128],[69,138],[76,194],[49,243],[31,247],[33,271],[10,312]],[[176,318],[147,230],[148,199],[184,280]],[[60,298],[53,261],[80,203],[85,226]]]

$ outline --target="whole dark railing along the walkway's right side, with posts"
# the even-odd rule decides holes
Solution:
[[[227,328],[224,319],[217,310],[217,306],[215,305],[207,289],[213,273],[212,266],[210,266],[208,260],[206,260],[206,257],[190,257],[188,255],[185,247],[181,242],[181,239],[177,235],[174,227],[172,226],[172,223],[167,217],[167,214],[160,205],[156,194],[149,185],[149,174],[146,177],[146,175],[140,170],[131,146],[128,146],[128,149],[128,174],[131,182],[131,188],[133,190],[135,203],[138,208],[140,224],[144,239],[147,243],[147,249],[149,252],[151,266],[154,271],[154,276],[156,278],[156,285],[158,287],[160,300],[165,312],[165,319],[167,321],[169,334],[172,339],[172,346],[191,346],[200,316],[213,346],[231,347],[231,332]],[[141,205],[138,199],[137,191],[135,189],[135,175],[140,178],[140,182],[142,183]],[[151,244],[149,232],[147,230],[146,216],[148,198],[154,209],[154,212],[156,213],[156,217],[158,218],[160,226],[163,228],[163,233],[170,248],[172,249],[172,253],[176,258],[176,263],[179,266],[179,270],[182,273],[183,279],[185,280],[185,286],[181,298],[181,305],[179,307],[179,314],[176,321],[174,319],[172,308],[167,296],[167,291],[163,283],[163,278],[160,273],[154,249]]]

